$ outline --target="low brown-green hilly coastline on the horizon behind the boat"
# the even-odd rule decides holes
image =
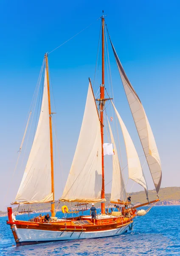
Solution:
[[[146,194],[144,191],[139,191],[139,192],[132,192],[129,193],[129,196],[131,196],[131,201],[133,204],[138,204],[138,203],[145,203],[147,202],[146,200]],[[160,197],[160,202],[158,202],[157,205],[172,205],[172,204],[180,204],[180,187],[167,187],[167,188],[161,188],[159,191],[159,197]],[[105,198],[106,198],[106,207],[108,207],[109,201],[110,201],[110,194],[105,194]],[[149,201],[155,200],[157,199],[156,196],[156,191],[154,190],[149,190]],[[64,205],[64,203],[60,203],[59,207],[58,207],[59,201],[55,201],[55,209],[60,210],[62,205]],[[69,203],[65,204],[70,207]],[[75,204],[77,203],[73,203],[72,207],[76,207]],[[90,204],[89,204],[90,205]],[[100,207],[101,203],[97,203],[96,207]],[[110,205],[112,206],[112,205]],[[58,207],[58,208],[57,208]],[[82,208],[82,207],[81,207]],[[27,211],[30,210],[30,205],[21,205],[18,209],[18,211]],[[31,206],[31,210],[33,212],[46,212],[46,211],[50,211],[51,209],[51,204],[47,203],[47,204],[33,204]],[[13,211],[17,211],[17,207],[15,207],[13,209]],[[2,215],[6,215],[6,212],[2,212],[0,211],[0,216]]]

